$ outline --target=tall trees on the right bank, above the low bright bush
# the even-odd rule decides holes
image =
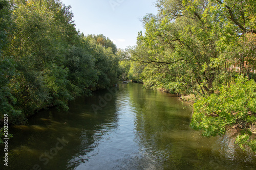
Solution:
[[[232,17],[239,19],[227,12],[231,5]],[[232,65],[241,65],[241,75],[251,70],[242,69],[249,59],[244,54],[249,52],[241,52],[246,49],[244,31],[255,29],[248,19],[253,17],[251,4],[159,0],[156,6],[158,15],[148,14],[142,20],[145,33],[139,33],[132,56],[145,65],[142,77],[147,87],[184,95],[211,94],[219,84],[230,83],[237,71],[230,69]],[[240,25],[249,27],[245,30]]]

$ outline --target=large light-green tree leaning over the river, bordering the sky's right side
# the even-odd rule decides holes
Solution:
[[[209,34],[202,18],[204,8],[201,6],[206,4],[199,4],[195,9],[189,5],[183,1],[158,1],[158,16],[148,15],[143,19],[146,32],[141,39],[142,46],[149,49],[148,57],[136,60],[148,67],[158,67],[159,74],[172,81],[190,82],[188,86],[194,91],[212,93],[218,74],[218,66],[214,64],[218,58],[216,38]]]

